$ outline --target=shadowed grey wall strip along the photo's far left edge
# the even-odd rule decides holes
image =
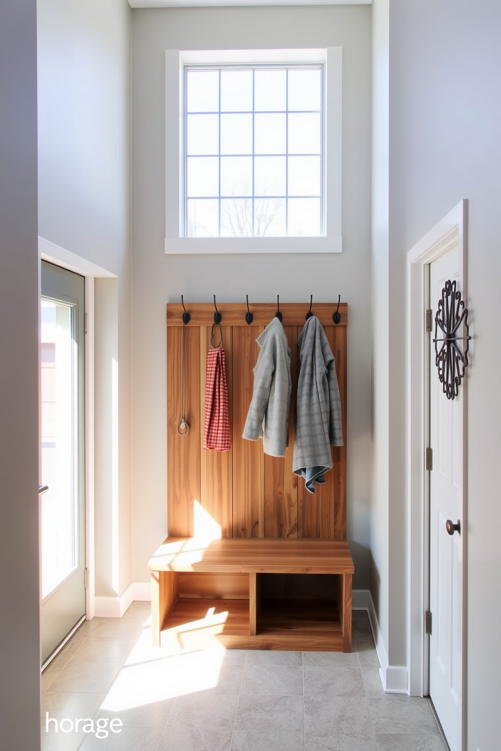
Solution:
[[[35,0],[0,4],[0,735],[40,749]]]

